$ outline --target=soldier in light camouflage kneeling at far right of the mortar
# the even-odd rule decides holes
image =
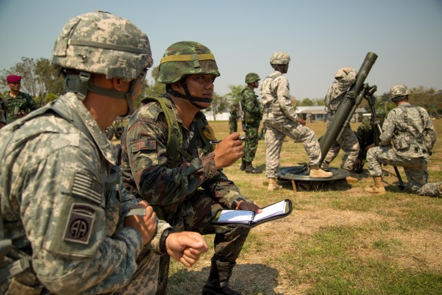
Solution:
[[[390,99],[396,108],[388,113],[382,125],[379,146],[367,152],[368,171],[374,187],[367,193],[385,195],[381,164],[402,166],[413,193],[421,196],[441,195],[442,182],[428,183],[427,163],[436,142],[436,131],[425,108],[408,103],[410,91],[404,84],[390,89]]]

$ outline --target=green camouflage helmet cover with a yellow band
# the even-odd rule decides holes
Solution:
[[[171,84],[186,75],[220,76],[215,57],[206,46],[195,41],[180,41],[169,46],[160,61],[158,81]]]

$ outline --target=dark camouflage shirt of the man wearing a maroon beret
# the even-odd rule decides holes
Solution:
[[[11,97],[9,93],[3,97],[3,103],[5,104],[6,120],[8,123],[12,123],[19,119],[18,113],[24,111],[25,115],[28,115],[31,111],[37,109],[35,100],[28,95],[19,91],[16,97]]]

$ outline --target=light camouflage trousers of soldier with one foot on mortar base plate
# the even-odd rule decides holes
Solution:
[[[277,178],[282,142],[285,135],[295,142],[302,142],[310,165],[319,164],[320,146],[314,131],[291,120],[285,120],[284,122],[266,120],[264,126],[266,129],[265,144],[267,146],[265,155],[265,173],[267,178]]]

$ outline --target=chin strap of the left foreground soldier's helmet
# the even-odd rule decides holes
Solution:
[[[95,86],[92,82],[92,79],[90,79],[90,73],[80,72],[79,75],[68,75],[65,72],[61,72],[61,74],[64,75],[64,84],[68,92],[77,93],[77,97],[80,100],[84,100],[88,91],[91,91],[99,95],[114,97],[118,99],[126,99],[126,103],[128,106],[128,113],[126,113],[126,115],[132,115],[135,111],[135,108],[133,106],[133,95],[135,95],[135,87],[137,86],[136,80],[132,80],[129,90],[127,92],[124,92],[116,91],[115,89]]]

